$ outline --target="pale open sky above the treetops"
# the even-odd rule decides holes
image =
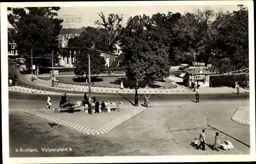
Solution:
[[[97,13],[103,12],[105,16],[110,13],[123,14],[122,25],[125,25],[128,18],[135,15],[152,16],[156,13],[176,13],[193,12],[195,9],[204,10],[210,8],[214,11],[222,9],[223,11],[239,10],[236,5],[184,5],[184,6],[89,6],[89,7],[61,7],[58,11],[58,18],[62,18],[62,28],[81,28],[82,26],[95,26],[94,22],[99,19]],[[246,5],[245,5],[246,6]],[[247,7],[247,6],[246,6]],[[72,19],[74,21],[72,21]],[[69,21],[69,22],[68,22]],[[70,22],[72,21],[72,22]],[[11,25],[8,23],[8,27]]]

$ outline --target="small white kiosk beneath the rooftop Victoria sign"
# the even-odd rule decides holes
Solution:
[[[180,75],[180,77],[183,77],[183,85],[191,87],[191,84],[194,83],[194,69],[185,68],[183,71],[184,73]],[[206,69],[195,69],[195,85],[200,85],[200,87],[210,87],[210,74],[212,73]]]

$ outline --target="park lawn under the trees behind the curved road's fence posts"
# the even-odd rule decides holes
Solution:
[[[50,77],[38,77],[40,79],[49,80]],[[84,85],[87,86],[86,78],[79,77],[56,77],[59,83],[72,84],[72,85]],[[123,80],[124,88],[134,88],[136,86],[135,80],[127,80],[126,77],[92,77],[91,83],[94,83],[96,87],[110,87],[120,88],[121,80]],[[163,81],[150,81],[148,83],[149,88],[176,88],[177,86],[172,83],[173,81],[164,78]],[[146,81],[139,81],[139,88],[146,87]]]

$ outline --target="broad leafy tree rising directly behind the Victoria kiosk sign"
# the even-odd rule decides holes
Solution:
[[[175,59],[193,59],[191,57],[196,52],[197,59],[207,64],[214,44],[211,28],[214,18],[215,12],[209,8],[203,11],[196,9],[193,13],[186,12],[181,16],[174,30],[176,43],[179,43],[173,50]]]

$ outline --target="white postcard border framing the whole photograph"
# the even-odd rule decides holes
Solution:
[[[250,155],[202,155],[202,156],[111,156],[111,157],[44,157],[9,158],[8,119],[8,62],[7,50],[7,7],[44,6],[205,6],[205,5],[248,5],[249,10],[249,70],[250,70]],[[158,2],[43,2],[43,3],[1,3],[1,73],[2,73],[2,144],[3,163],[96,163],[96,162],[189,162],[189,161],[255,161],[255,81],[254,81],[254,24],[253,1],[158,1]],[[40,159],[40,160],[38,160]]]

